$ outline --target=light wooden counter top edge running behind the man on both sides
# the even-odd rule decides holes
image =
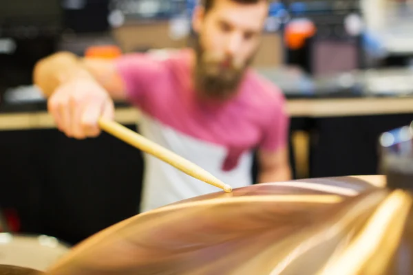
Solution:
[[[288,99],[291,118],[328,118],[360,115],[413,113],[413,97]],[[140,111],[117,103],[115,119],[121,124],[138,123]],[[45,103],[10,104],[0,108],[0,130],[52,129],[54,121]]]

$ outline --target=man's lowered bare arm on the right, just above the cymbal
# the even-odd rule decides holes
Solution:
[[[289,181],[292,179],[288,148],[277,151],[259,151],[257,154],[260,173],[258,183]]]

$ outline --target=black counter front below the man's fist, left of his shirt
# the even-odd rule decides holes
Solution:
[[[22,232],[77,243],[138,212],[142,156],[115,137],[39,130],[0,132],[0,140],[0,207],[17,210]]]

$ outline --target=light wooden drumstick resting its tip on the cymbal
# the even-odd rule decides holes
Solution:
[[[221,188],[225,192],[231,192],[232,187],[228,184],[224,184],[220,179],[217,179],[206,170],[200,168],[196,164],[189,162],[189,160],[176,155],[169,151],[167,148],[148,140],[146,137],[127,129],[125,126],[118,124],[118,122],[114,122],[112,120],[107,120],[105,118],[100,118],[98,121],[100,129],[106,131],[117,137],[119,140],[123,140],[127,144],[130,144],[146,153],[153,155],[154,157],[158,157],[164,162],[171,164],[175,168],[178,168],[182,172],[194,177],[195,179],[200,179],[201,181],[206,182],[207,184],[211,184],[218,188]]]

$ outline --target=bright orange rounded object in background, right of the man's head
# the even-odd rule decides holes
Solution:
[[[291,21],[286,26],[285,43],[291,50],[298,50],[304,47],[306,39],[313,36],[317,32],[315,24],[309,20]]]

